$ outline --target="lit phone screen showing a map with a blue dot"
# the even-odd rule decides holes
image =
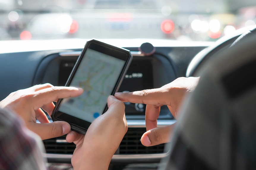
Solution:
[[[83,88],[82,95],[63,99],[59,111],[92,122],[100,116],[125,61],[88,48],[69,86]]]

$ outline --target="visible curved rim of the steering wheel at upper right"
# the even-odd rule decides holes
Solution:
[[[198,70],[212,57],[216,56],[221,51],[226,50],[230,46],[237,46],[243,41],[256,34],[256,25],[244,27],[229,36],[224,36],[214,43],[200,51],[189,63],[187,68],[186,77],[197,76]]]

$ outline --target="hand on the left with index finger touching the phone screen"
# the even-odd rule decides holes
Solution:
[[[53,101],[59,98],[76,97],[82,93],[82,89],[74,87],[56,87],[49,83],[35,85],[11,93],[0,102],[0,108],[17,113],[26,127],[44,140],[65,135],[70,131],[70,125],[67,122],[50,123],[44,111],[51,115],[54,108]],[[36,119],[41,123],[36,123]]]

